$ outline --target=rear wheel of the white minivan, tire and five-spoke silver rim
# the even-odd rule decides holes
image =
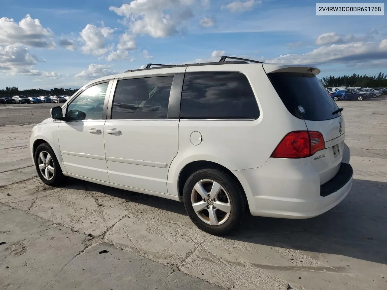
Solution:
[[[247,200],[240,184],[221,169],[201,169],[188,177],[183,189],[185,210],[204,232],[226,235],[247,216]]]

